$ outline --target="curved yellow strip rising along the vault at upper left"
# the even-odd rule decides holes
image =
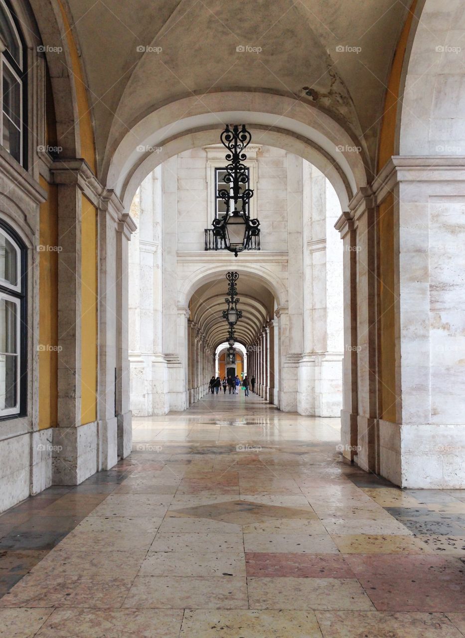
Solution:
[[[87,87],[84,83],[84,76],[82,74],[79,54],[73,38],[73,33],[71,32],[71,26],[68,22],[66,11],[64,11],[61,0],[57,0],[57,2],[60,7],[61,16],[63,17],[63,24],[66,29],[66,40],[68,41],[71,64],[73,65],[73,68],[70,69],[69,72],[73,74],[76,89],[81,140],[81,155],[85,159],[85,161],[87,161],[87,164],[89,164],[89,166],[91,167],[94,175],[96,175],[94,131],[92,130],[92,119],[91,110],[89,108],[89,100],[87,100]]]

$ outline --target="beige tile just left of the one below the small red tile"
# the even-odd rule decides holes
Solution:
[[[123,604],[133,609],[247,609],[248,606],[246,579],[224,576],[137,576]]]

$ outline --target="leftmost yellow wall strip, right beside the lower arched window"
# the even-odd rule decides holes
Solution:
[[[57,187],[40,178],[47,201],[40,206],[40,244],[58,244]],[[39,253],[39,429],[58,424],[58,253]]]

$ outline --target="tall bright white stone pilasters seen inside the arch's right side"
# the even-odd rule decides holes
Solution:
[[[341,207],[321,172],[304,162],[304,347],[298,410],[336,417],[342,407],[343,245],[334,224]]]

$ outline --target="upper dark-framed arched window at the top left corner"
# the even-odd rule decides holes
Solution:
[[[26,160],[25,50],[17,22],[6,0],[0,0],[0,142],[24,165]]]

